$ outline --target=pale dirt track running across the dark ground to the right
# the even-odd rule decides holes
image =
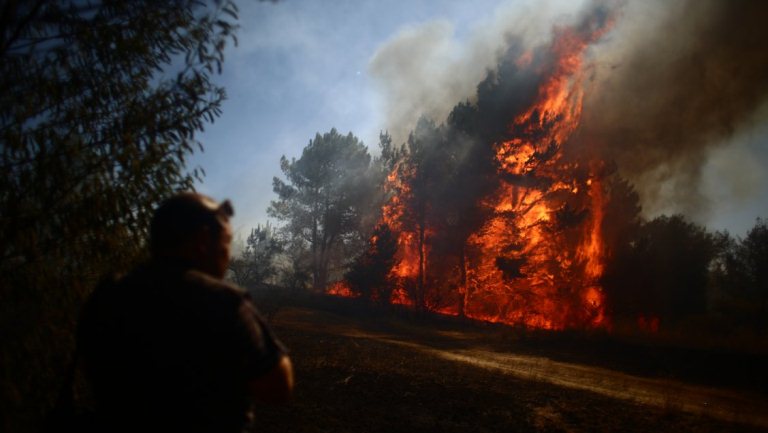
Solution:
[[[318,317],[321,315],[322,317]],[[704,387],[676,380],[652,379],[589,365],[553,361],[546,357],[500,353],[483,348],[446,349],[429,338],[399,332],[363,329],[353,320],[329,313],[291,309],[280,314],[280,323],[313,332],[372,339],[423,352],[446,360],[498,371],[525,380],[591,391],[610,398],[633,401],[671,411],[705,415],[723,421],[768,428],[768,398],[743,391]],[[440,338],[466,341],[471,333],[451,332]]]

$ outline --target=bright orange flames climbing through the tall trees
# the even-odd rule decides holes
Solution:
[[[609,326],[599,285],[607,201],[601,164],[564,155],[581,120],[585,50],[609,25],[590,34],[558,29],[550,63],[535,64],[531,51],[515,60],[545,76],[530,106],[509,119],[508,138],[492,144],[499,187],[481,202],[490,216],[467,238],[461,264],[433,257],[438,233],[414,229],[407,208],[414,169],[392,170],[382,209],[397,235],[391,303],[541,329]],[[442,273],[430,273],[433,266]]]

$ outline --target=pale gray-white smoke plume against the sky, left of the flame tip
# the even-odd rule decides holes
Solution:
[[[447,21],[402,29],[379,48],[369,68],[385,99],[385,129],[402,143],[420,116],[444,121],[457,103],[476,99],[478,83],[496,68],[510,43],[545,42],[552,24],[575,13],[578,5],[572,0],[508,2],[465,39]]]

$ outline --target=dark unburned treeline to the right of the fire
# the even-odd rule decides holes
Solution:
[[[603,284],[618,324],[728,335],[768,331],[768,225],[744,239],[681,215],[643,222],[615,245]]]

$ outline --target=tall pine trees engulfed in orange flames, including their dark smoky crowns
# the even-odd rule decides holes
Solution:
[[[559,29],[536,51],[513,46],[475,104],[456,106],[445,125],[418,123],[386,182],[382,221],[398,246],[391,302],[541,328],[605,322],[613,174],[568,146],[583,56],[609,18]]]

